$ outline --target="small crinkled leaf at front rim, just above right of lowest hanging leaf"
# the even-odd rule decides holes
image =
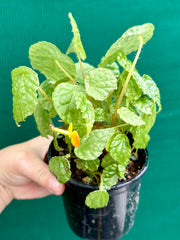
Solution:
[[[114,186],[118,181],[118,166],[117,164],[112,164],[106,167],[103,170],[102,174],[102,188],[104,190],[109,190],[112,186]]]

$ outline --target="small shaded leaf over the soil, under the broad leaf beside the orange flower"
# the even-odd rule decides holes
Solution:
[[[86,161],[86,160],[81,160],[81,159],[75,159],[76,162],[76,167],[79,169],[82,169],[84,172],[89,170],[89,171],[97,171],[99,167],[99,159],[91,160],[91,161]]]

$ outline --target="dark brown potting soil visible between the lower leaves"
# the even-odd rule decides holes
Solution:
[[[132,144],[132,139],[131,139],[131,136],[129,136],[130,138],[130,144]],[[61,146],[63,148],[62,151],[56,151],[54,149],[54,147],[51,149],[51,154],[52,156],[65,156],[69,153],[69,150],[68,150],[68,147],[67,147],[67,144],[65,143],[65,139],[62,137],[62,138],[59,138],[58,139],[58,142],[59,142],[59,146]],[[74,148],[72,148],[72,156],[73,156],[73,151],[74,151]],[[104,149],[103,153],[101,154],[101,156],[99,157],[100,161],[102,160],[102,158],[107,154],[107,151]],[[84,182],[84,183],[89,183],[88,182],[88,175],[83,172],[82,170],[78,169],[76,167],[76,163],[75,161],[73,161],[73,158],[75,159],[76,157],[71,157],[71,172],[72,172],[72,175],[71,177],[73,179],[76,179],[77,181],[80,181],[80,182]],[[48,158],[46,159],[46,162],[48,163]],[[145,151],[144,149],[139,149],[137,152],[136,150],[134,149],[131,153],[131,158],[129,160],[129,163],[127,164],[126,166],[126,172],[125,172],[125,176],[124,178],[119,178],[119,182],[123,182],[123,181],[127,181],[129,179],[131,179],[132,177],[136,176],[139,171],[141,170],[142,166],[144,165],[144,162],[145,162]],[[98,169],[99,172],[102,172],[103,168],[100,167]],[[97,185],[97,181],[96,179],[94,178],[93,181],[91,181],[90,183],[91,185]]]

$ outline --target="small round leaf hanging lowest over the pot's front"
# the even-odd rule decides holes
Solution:
[[[86,197],[86,205],[89,208],[103,208],[108,205],[109,194],[104,190],[96,190],[89,193]]]

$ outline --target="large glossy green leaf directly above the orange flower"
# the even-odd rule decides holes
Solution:
[[[70,84],[59,84],[52,96],[54,107],[61,119],[67,124],[81,124],[81,110],[76,106],[76,94],[83,91],[82,87]]]

